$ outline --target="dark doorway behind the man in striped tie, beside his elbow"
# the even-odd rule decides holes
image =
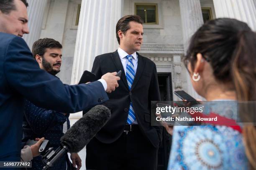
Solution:
[[[170,72],[157,73],[161,101],[172,101],[172,76]],[[166,170],[172,144],[172,136],[163,128],[163,140],[158,151],[157,170]]]

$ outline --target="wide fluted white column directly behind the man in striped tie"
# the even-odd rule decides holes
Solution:
[[[97,55],[118,48],[115,25],[122,17],[123,0],[82,0],[71,84],[91,70]]]

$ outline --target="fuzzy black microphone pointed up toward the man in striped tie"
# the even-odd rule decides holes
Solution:
[[[90,140],[100,131],[100,129],[110,119],[111,112],[104,105],[92,107],[82,118],[77,120],[74,125],[67,130],[61,137],[61,145],[55,151],[49,148],[46,154],[42,156],[46,164],[43,170],[52,167],[64,154],[78,153],[87,145]],[[39,149],[40,152],[40,149]]]

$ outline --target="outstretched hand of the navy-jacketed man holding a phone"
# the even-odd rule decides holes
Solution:
[[[120,80],[120,77],[115,76],[117,72],[108,72],[105,75],[102,75],[102,79],[104,79],[107,82],[107,90],[106,92],[112,92],[115,91],[115,88],[118,87],[118,80]]]

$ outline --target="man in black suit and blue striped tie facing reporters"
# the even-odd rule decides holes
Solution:
[[[137,15],[116,25],[120,47],[95,57],[92,72],[122,71],[118,89],[104,103],[112,116],[87,145],[88,170],[156,170],[161,127],[151,126],[151,101],[160,100],[156,65],[139,55],[143,20]]]

